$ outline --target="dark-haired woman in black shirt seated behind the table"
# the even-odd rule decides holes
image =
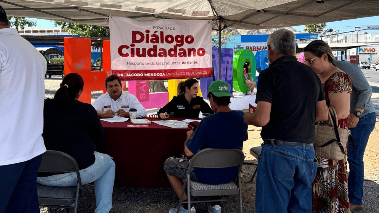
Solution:
[[[169,114],[174,112],[174,117],[191,117],[198,118],[200,111],[202,113],[213,114],[208,103],[200,96],[199,83],[194,78],[188,78],[178,85],[178,94],[158,111],[158,117],[165,119],[170,117]]]

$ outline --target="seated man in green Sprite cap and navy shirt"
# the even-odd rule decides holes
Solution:
[[[228,83],[221,80],[210,83],[208,100],[215,114],[205,117],[196,130],[187,132],[184,144],[186,156],[191,157],[204,148],[242,150],[243,141],[247,140],[247,125],[243,121],[244,113],[242,111],[234,111],[229,108],[230,97],[233,95],[230,93]],[[168,158],[164,162],[164,170],[179,197],[183,187],[182,179],[186,178],[188,164],[189,160],[176,157]],[[201,168],[194,168],[191,171],[191,180],[205,184],[229,183],[238,172],[236,168],[199,169]],[[187,194],[183,195],[183,201],[185,200],[187,200]],[[169,212],[175,213],[176,210],[176,208],[171,208]],[[188,212],[196,213],[195,207],[191,206],[190,211],[186,206],[180,207],[179,213]],[[220,202],[212,202],[208,207],[208,212],[221,212]]]

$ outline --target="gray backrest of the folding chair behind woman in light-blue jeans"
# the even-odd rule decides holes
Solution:
[[[42,162],[38,172],[77,172],[78,178],[80,178],[79,167],[75,159],[64,152],[55,150],[47,150],[42,154]]]

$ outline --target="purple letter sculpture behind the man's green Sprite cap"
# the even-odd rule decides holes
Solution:
[[[219,52],[216,47],[212,47],[213,77],[200,78],[202,94],[208,94],[208,86],[214,80],[219,80]],[[233,85],[233,49],[221,48],[221,80],[229,84],[229,91],[232,92]],[[203,95],[208,99],[207,95]]]

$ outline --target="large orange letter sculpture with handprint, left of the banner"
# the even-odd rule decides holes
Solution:
[[[91,91],[104,90],[109,72],[91,71],[91,39],[64,38],[64,75],[77,73],[84,80],[84,88],[78,100],[91,103]]]

